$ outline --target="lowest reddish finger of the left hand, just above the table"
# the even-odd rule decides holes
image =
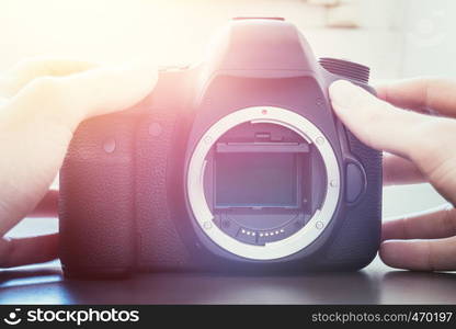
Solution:
[[[58,234],[0,239],[0,268],[42,263],[58,258]]]

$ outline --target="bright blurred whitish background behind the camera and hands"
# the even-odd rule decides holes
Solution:
[[[266,15],[295,23],[317,56],[369,66],[374,83],[455,77],[455,11],[451,0],[0,0],[0,72],[32,56],[194,63],[230,18]],[[386,188],[384,217],[444,203],[428,184]]]

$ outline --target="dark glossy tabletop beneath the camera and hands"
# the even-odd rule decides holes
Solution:
[[[354,273],[69,281],[53,262],[0,271],[0,304],[456,304],[456,273],[396,271],[376,259]]]

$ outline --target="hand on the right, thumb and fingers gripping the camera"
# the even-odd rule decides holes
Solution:
[[[406,80],[377,88],[375,98],[341,80],[329,92],[334,111],[353,134],[390,154],[384,158],[384,184],[430,182],[456,204],[456,82]],[[381,236],[379,254],[390,266],[456,270],[453,207],[384,223]]]

